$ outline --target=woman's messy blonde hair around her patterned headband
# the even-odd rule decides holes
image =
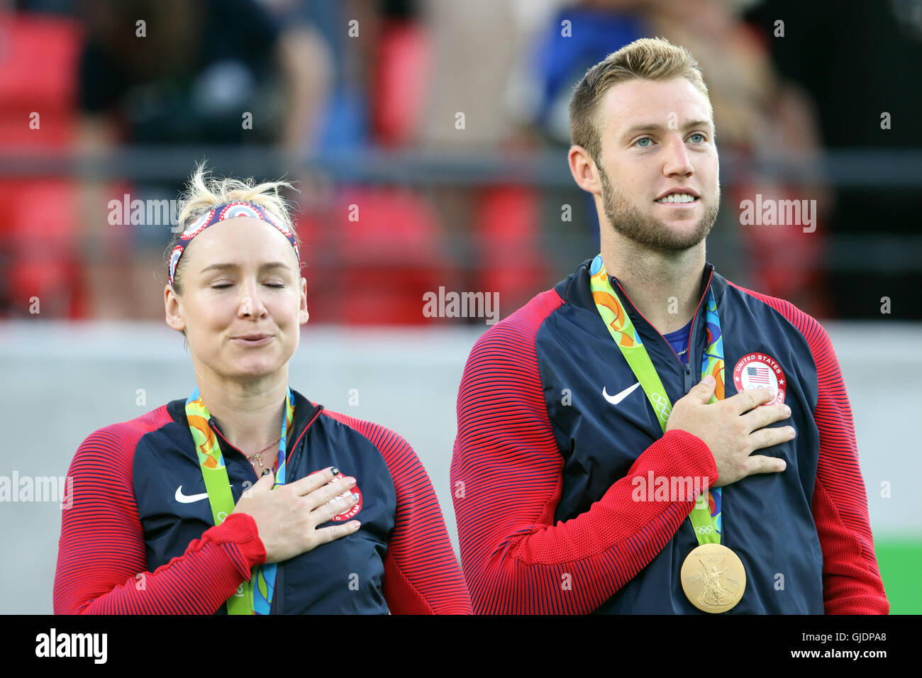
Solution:
[[[222,205],[228,202],[248,202],[257,205],[271,212],[283,226],[294,233],[295,241],[301,245],[301,239],[294,230],[291,223],[292,206],[288,200],[280,196],[280,188],[294,188],[286,181],[263,182],[256,184],[253,177],[246,180],[235,179],[233,177],[216,178],[208,176],[209,170],[206,169],[205,161],[195,165],[195,172],[189,177],[189,181],[183,188],[183,193],[179,198],[179,224],[182,228],[173,235],[170,246],[167,247],[164,267],[170,263],[170,255],[179,242],[186,226],[205,214],[209,209],[216,205]],[[297,190],[297,189],[295,189]],[[180,284],[180,270],[183,268],[183,258],[180,258],[176,264],[176,271],[173,274],[173,290],[177,294],[182,294],[183,290]]]

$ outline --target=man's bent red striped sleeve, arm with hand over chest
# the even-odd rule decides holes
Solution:
[[[495,325],[471,351],[458,391],[452,496],[475,613],[590,613],[659,553],[687,502],[635,502],[635,477],[717,478],[698,437],[668,431],[584,514],[553,522],[563,458],[548,419],[535,335],[554,291]]]

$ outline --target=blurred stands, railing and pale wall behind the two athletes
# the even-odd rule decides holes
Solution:
[[[0,1],[0,476],[64,476],[194,386],[164,250],[207,160],[300,189],[292,387],[403,434],[456,549],[455,395],[486,326],[423,295],[496,292],[504,317],[597,253],[567,104],[651,36],[714,105],[708,260],[829,329],[892,612],[922,612],[922,0]],[[815,201],[816,230],[745,225],[757,195]],[[59,511],[0,503],[0,612],[51,612]]]

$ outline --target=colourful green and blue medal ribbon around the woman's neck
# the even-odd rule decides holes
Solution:
[[[215,525],[220,525],[233,510],[233,494],[228,470],[224,466],[224,456],[218,444],[218,438],[208,420],[211,415],[198,395],[198,387],[185,401],[185,418],[189,422],[189,431],[195,441],[198,464],[202,469],[208,503]],[[285,484],[285,448],[286,434],[294,420],[294,394],[288,389],[285,398],[285,416],[282,418],[282,436],[278,441],[278,458],[276,459],[276,479],[273,489]],[[254,586],[255,583],[255,586]],[[227,600],[228,614],[268,614],[272,604],[272,593],[276,583],[276,564],[256,565],[250,581],[244,581]]]

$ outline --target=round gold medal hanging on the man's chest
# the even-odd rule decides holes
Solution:
[[[682,563],[682,590],[705,613],[725,613],[746,590],[746,570],[739,556],[722,544],[702,544]]]

